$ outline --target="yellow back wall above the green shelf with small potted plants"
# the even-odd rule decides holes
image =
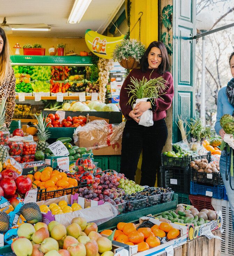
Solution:
[[[78,55],[81,51],[89,52],[84,38],[34,38],[10,35],[7,37],[10,44],[11,55],[15,54],[15,49],[13,47],[16,43],[19,43],[21,47],[23,47],[23,45],[26,43],[30,43],[31,45],[34,43],[40,43],[42,47],[45,48],[45,55],[49,55],[49,48],[52,46],[57,47],[58,43],[66,43],[65,52],[73,50]],[[23,55],[23,49],[20,49],[20,55]]]

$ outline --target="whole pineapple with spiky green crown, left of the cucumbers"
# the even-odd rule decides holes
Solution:
[[[38,124],[36,126],[38,132],[37,132],[37,137],[38,137],[38,142],[37,142],[37,151],[41,150],[43,153],[45,149],[50,145],[49,143],[46,142],[47,139],[49,139],[49,132],[48,129],[49,127],[46,127],[47,122],[44,120],[44,115],[39,114],[39,116],[35,115]]]

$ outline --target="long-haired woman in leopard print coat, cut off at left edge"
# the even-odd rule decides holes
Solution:
[[[10,64],[9,43],[0,28],[0,102],[6,98],[6,127],[9,127],[15,109],[15,74]]]

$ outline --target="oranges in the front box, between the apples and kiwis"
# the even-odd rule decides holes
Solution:
[[[101,234],[111,235],[111,229],[105,229]],[[167,233],[167,234],[166,234]],[[170,239],[180,236],[180,230],[173,228],[169,223],[161,222],[152,228],[139,228],[134,223],[119,222],[115,231],[114,240],[128,245],[138,245],[138,252],[145,251],[160,245],[159,237]]]

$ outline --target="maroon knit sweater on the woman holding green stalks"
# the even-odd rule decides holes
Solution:
[[[153,72],[152,72],[153,71]],[[145,73],[142,73],[140,69],[136,68],[133,69],[129,75],[126,77],[123,86],[120,90],[120,96],[119,96],[119,106],[121,108],[121,111],[124,115],[124,117],[127,120],[131,120],[132,118],[129,116],[129,112],[132,110],[132,103],[128,104],[129,98],[131,97],[131,94],[128,95],[128,89],[129,85],[132,85],[130,82],[130,78],[134,77],[137,80],[142,80],[142,78],[145,76],[148,80],[151,78],[158,78],[159,76],[162,76],[168,83],[166,84],[167,88],[164,92],[161,98],[159,98],[156,103],[156,108],[153,111],[153,121],[158,121],[160,119],[163,119],[166,117],[166,110],[171,106],[171,102],[174,96],[174,87],[173,87],[173,78],[171,73],[166,72],[163,75],[158,73],[158,68],[150,69],[148,68]],[[150,78],[149,78],[150,76]],[[135,103],[135,102],[134,102]]]

